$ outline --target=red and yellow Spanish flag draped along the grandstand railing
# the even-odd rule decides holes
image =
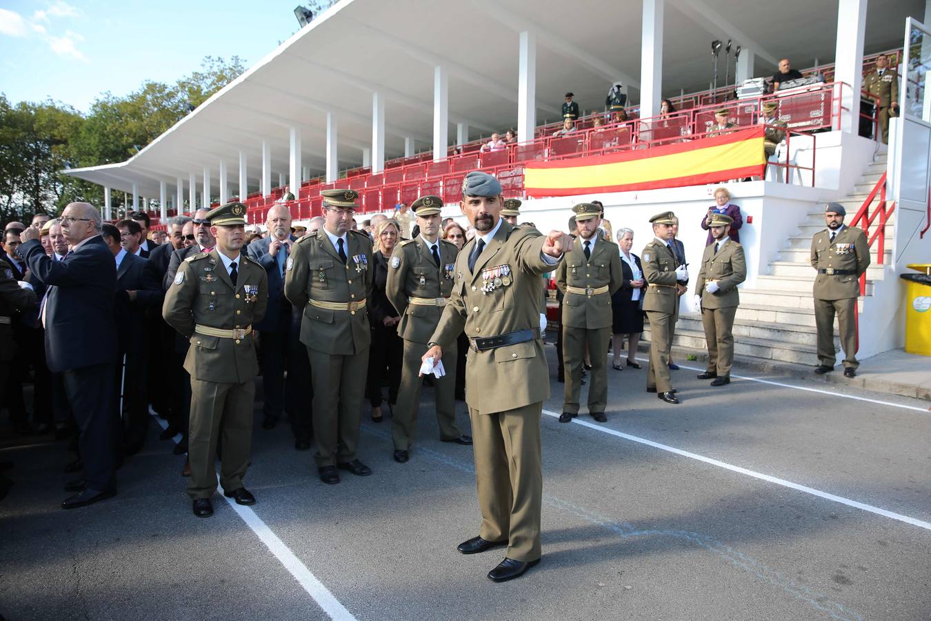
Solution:
[[[610,155],[528,162],[528,196],[655,190],[762,175],[763,128]]]

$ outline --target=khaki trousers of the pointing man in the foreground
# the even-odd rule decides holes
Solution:
[[[481,528],[487,541],[506,541],[508,559],[540,558],[543,402],[507,412],[469,410]]]

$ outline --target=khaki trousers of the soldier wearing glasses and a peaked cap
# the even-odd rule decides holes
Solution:
[[[317,466],[356,459],[358,425],[365,397],[369,348],[351,356],[307,348],[314,385],[314,440]]]

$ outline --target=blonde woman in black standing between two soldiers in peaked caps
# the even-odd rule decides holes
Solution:
[[[398,244],[400,226],[388,219],[378,223],[372,232],[375,236],[375,278],[369,297],[368,312],[371,326],[369,348],[369,375],[366,379],[366,394],[371,404],[371,420],[382,421],[382,384],[388,381],[388,411],[398,402],[398,386],[401,383],[401,364],[404,358],[404,342],[398,336],[398,311],[388,302],[385,286],[388,281],[388,260]]]

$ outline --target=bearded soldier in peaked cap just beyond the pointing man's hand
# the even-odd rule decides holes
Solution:
[[[611,296],[620,289],[621,255],[614,244],[599,235],[600,208],[594,203],[573,207],[579,238],[556,270],[562,300],[562,359],[565,398],[560,423],[579,412],[582,366],[586,349],[591,356],[588,413],[599,423],[608,403],[608,342],[611,340]]]

